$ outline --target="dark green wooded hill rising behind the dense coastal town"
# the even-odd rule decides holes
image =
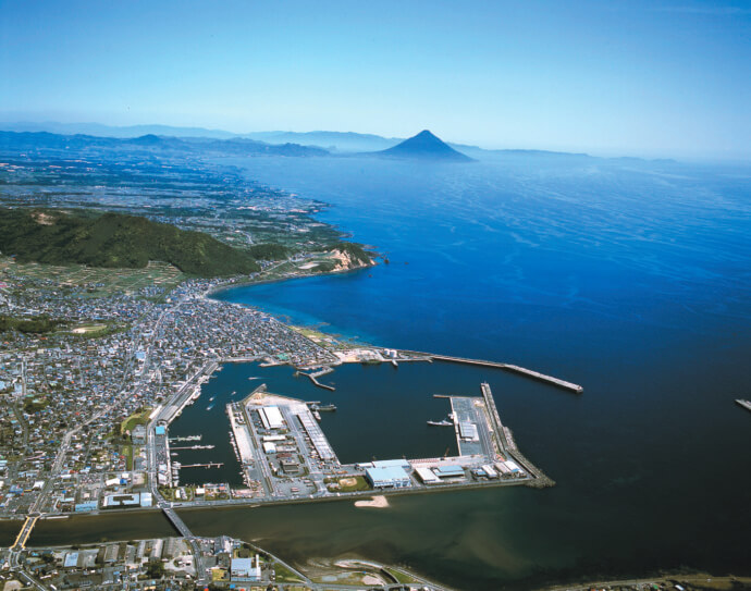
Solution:
[[[48,264],[144,268],[159,260],[199,276],[259,270],[250,255],[208,234],[121,213],[0,208],[0,251]]]

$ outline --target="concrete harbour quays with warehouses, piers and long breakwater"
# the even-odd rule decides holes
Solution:
[[[401,362],[438,360],[503,369],[571,393],[580,394],[583,391],[578,384],[510,364],[378,347],[336,352],[336,356],[338,364],[298,367],[298,374],[307,375],[321,389],[334,390],[334,386],[319,382],[318,378],[334,371],[334,367],[341,364],[391,362],[397,367]],[[359,464],[342,464],[319,424],[320,413],[335,410],[333,405],[321,407],[320,403],[297,399],[286,393],[268,392],[267,386],[260,384],[244,399],[232,402],[225,408],[231,428],[229,436],[242,465],[245,485],[231,489],[229,485],[206,484],[196,490],[205,492],[207,488],[222,487],[225,494],[221,497],[209,497],[207,494],[200,498],[194,490],[192,495],[178,494],[168,502],[160,494],[160,489],[180,491],[180,469],[192,466],[175,466],[171,460],[171,450],[205,448],[199,434],[170,438],[170,423],[186,405],[200,396],[201,384],[221,365],[251,361],[264,367],[285,365],[271,358],[229,358],[207,362],[167,404],[151,413],[148,472],[155,498],[161,500],[160,506],[256,506],[478,487],[554,485],[519,451],[510,429],[501,420],[488,383],[479,384],[479,395],[475,396],[435,395],[446,398],[451,420],[429,422],[436,428],[454,429],[458,455]],[[210,467],[213,464],[201,466]]]

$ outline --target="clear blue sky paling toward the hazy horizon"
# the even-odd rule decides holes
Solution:
[[[0,121],[751,159],[751,2],[0,0]]]

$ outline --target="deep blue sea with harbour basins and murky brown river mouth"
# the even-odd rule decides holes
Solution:
[[[390,263],[218,297],[373,344],[518,364],[584,392],[418,364],[346,367],[324,378],[337,387],[329,393],[288,368],[226,366],[190,407],[216,396],[207,416],[220,438],[224,397],[258,377],[335,403],[322,426],[344,461],[444,453],[453,443],[424,426],[446,411],[432,394],[479,394],[488,380],[520,450],[556,487],[395,497],[385,509],[185,512],[195,532],[258,540],[303,564],[403,564],[467,590],[657,569],[751,574],[751,414],[734,404],[751,398],[751,168],[538,153],[231,163],[331,204],[320,219]],[[175,429],[192,420],[186,411]],[[130,534],[157,527],[138,519],[128,517]],[[42,524],[33,541],[62,529],[72,534]]]

